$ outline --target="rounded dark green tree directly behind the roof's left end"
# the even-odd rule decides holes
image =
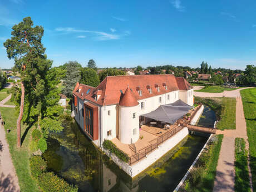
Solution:
[[[80,83],[90,85],[92,87],[97,87],[100,83],[99,76],[92,68],[81,68],[80,75]]]

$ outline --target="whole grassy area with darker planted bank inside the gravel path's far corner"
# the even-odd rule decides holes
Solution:
[[[235,129],[235,98],[228,97],[195,97],[196,102],[207,105],[215,112],[217,120],[217,129]]]

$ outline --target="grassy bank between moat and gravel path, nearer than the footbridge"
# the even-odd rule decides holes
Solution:
[[[196,165],[191,170],[188,179],[186,179],[182,189],[179,191],[213,191],[223,135],[215,135],[214,137],[214,141],[205,147]]]

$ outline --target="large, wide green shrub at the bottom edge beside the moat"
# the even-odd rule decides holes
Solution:
[[[58,178],[52,172],[42,173],[38,178],[38,183],[45,192],[77,192],[77,186],[68,184],[65,180]]]

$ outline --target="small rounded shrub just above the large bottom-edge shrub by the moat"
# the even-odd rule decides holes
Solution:
[[[45,160],[41,156],[32,156],[29,160],[30,164],[30,171],[33,178],[37,178],[40,176],[43,172],[45,172],[47,165]]]

